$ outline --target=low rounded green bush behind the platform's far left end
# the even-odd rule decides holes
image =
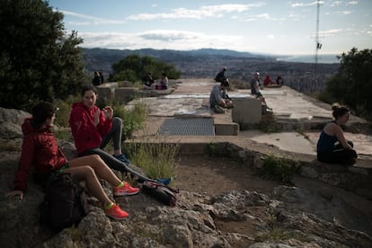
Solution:
[[[142,80],[148,72],[152,73],[154,79],[159,78],[162,73],[165,73],[168,78],[180,78],[180,72],[174,66],[163,61],[156,61],[155,58],[149,56],[129,55],[114,63],[112,70],[111,81],[128,80],[136,82]]]

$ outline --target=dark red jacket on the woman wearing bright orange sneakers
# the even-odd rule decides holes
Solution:
[[[50,127],[43,125],[35,129],[31,118],[22,124],[23,143],[19,168],[14,177],[14,190],[27,190],[27,180],[31,166],[34,173],[49,173],[66,164],[66,156],[59,149]]]

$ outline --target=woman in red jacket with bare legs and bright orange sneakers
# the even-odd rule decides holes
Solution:
[[[21,199],[23,198],[33,166],[35,182],[40,185],[45,186],[51,173],[73,173],[79,181],[85,181],[87,189],[94,197],[102,201],[109,217],[115,219],[128,217],[126,211],[109,199],[98,178],[113,186],[114,196],[134,195],[139,189],[130,187],[128,182],[121,182],[98,155],[67,161],[52,132],[56,110],[49,102],[40,102],[32,108],[32,118],[24,120],[22,154],[14,177],[14,190],[8,192],[6,197],[19,195]]]

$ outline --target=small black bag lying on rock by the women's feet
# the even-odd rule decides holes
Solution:
[[[180,190],[174,190],[160,182],[146,181],[142,184],[142,191],[165,205],[173,207],[177,201],[176,194],[179,193]]]

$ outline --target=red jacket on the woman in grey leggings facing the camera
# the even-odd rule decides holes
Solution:
[[[94,126],[94,112],[97,106],[88,109],[83,102],[75,102],[70,115],[70,127],[74,137],[77,154],[86,150],[97,148],[101,145],[102,137],[111,129],[112,120],[105,119],[103,112],[100,114],[100,123]]]

